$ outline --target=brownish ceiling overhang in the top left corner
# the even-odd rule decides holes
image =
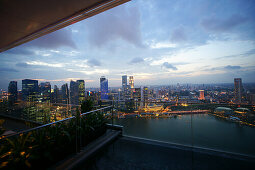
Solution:
[[[130,0],[1,0],[0,52]]]

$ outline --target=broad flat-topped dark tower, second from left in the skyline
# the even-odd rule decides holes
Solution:
[[[38,95],[38,80],[22,80],[22,96],[25,101],[36,101]]]

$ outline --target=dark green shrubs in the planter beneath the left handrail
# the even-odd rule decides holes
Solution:
[[[1,140],[0,168],[47,168],[75,153],[106,131],[106,120],[91,113],[27,134]]]

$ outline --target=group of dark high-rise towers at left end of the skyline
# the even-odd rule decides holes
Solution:
[[[4,97],[3,97],[4,96]],[[46,102],[62,104],[81,104],[85,100],[85,81],[71,81],[70,86],[65,83],[59,89],[56,85],[52,89],[50,82],[38,83],[38,80],[22,80],[22,90],[18,90],[17,81],[11,81],[8,93],[2,95],[10,103],[18,101]]]

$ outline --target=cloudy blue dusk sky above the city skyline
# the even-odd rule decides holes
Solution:
[[[0,88],[39,79],[99,87],[255,82],[255,1],[133,0],[0,54]]]

